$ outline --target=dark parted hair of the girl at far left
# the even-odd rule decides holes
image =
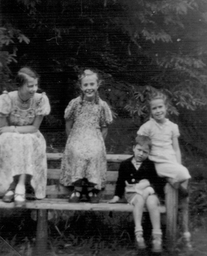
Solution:
[[[36,78],[39,79],[39,75],[34,69],[25,66],[25,67],[19,69],[19,71],[17,73],[17,77],[16,77],[17,86],[22,87],[23,84],[27,83],[28,76],[30,76],[34,79],[36,79]]]

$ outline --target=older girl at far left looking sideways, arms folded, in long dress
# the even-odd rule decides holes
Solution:
[[[16,206],[25,206],[27,185],[38,199],[46,193],[46,142],[39,126],[50,105],[45,93],[36,93],[38,79],[24,67],[18,72],[18,90],[0,95],[0,192],[3,201]]]

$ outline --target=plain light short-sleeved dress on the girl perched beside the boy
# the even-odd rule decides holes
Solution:
[[[177,162],[173,149],[173,137],[179,137],[178,126],[166,118],[166,122],[159,124],[153,118],[140,126],[137,134],[151,138],[152,149],[148,158],[155,163],[157,173],[161,177],[169,177],[177,182],[190,179],[188,169]]]

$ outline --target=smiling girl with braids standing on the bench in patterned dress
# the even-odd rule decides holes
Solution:
[[[104,140],[112,113],[98,96],[98,74],[87,69],[79,76],[82,95],[71,100],[65,109],[66,143],[61,163],[60,182],[74,186],[69,201],[80,201],[87,187],[88,200],[98,202],[98,191],[106,181]]]

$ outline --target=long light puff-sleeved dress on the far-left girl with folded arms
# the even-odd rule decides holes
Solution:
[[[50,112],[45,93],[35,93],[29,109],[18,107],[18,91],[0,95],[0,116],[6,116],[8,125],[32,125],[36,116]],[[4,193],[13,176],[31,175],[31,185],[38,199],[46,195],[47,162],[46,142],[38,130],[36,133],[3,133],[0,135],[0,193]]]

